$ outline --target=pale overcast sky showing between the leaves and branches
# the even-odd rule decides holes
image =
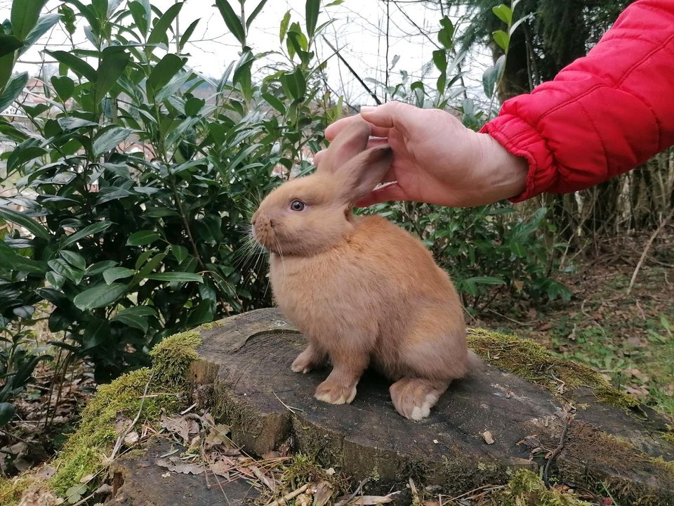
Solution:
[[[152,0],[152,4],[165,11],[175,0]],[[230,0],[238,4],[236,0]],[[84,0],[88,3],[88,0]],[[247,0],[246,11],[251,12],[258,0]],[[324,1],[323,4],[328,4]],[[50,0],[46,9],[55,11],[61,4],[58,0]],[[183,31],[193,20],[200,19],[197,30],[192,35],[192,42],[187,44],[185,52],[190,53],[189,64],[195,70],[210,77],[220,77],[223,70],[232,60],[238,59],[239,44],[228,33],[225,22],[218,9],[213,6],[212,0],[185,0],[180,13],[180,30]],[[263,12],[253,22],[249,32],[249,44],[253,51],[279,50],[279,22],[286,11],[291,12],[291,20],[304,19],[303,0],[270,0],[267,1]],[[326,31],[326,37],[341,50],[342,56],[361,77],[372,77],[384,80],[385,69],[385,34],[387,3],[383,0],[345,0],[340,6],[323,8],[319,16],[319,24],[333,18],[335,22]],[[391,71],[390,82],[395,84],[399,79],[399,70],[406,70],[415,77],[421,77],[423,67],[431,59],[432,51],[437,44],[435,32],[439,27],[441,13],[434,4],[419,4],[409,1],[388,2],[390,13],[389,22],[389,65],[395,56],[399,56],[395,68]],[[11,0],[0,0],[0,20],[9,18]],[[451,18],[457,20],[456,13]],[[416,25],[416,26],[415,26]],[[418,27],[431,32],[430,40],[419,33]],[[74,36],[75,42],[81,47],[89,46],[80,23]],[[333,51],[322,41],[317,46],[320,57],[330,56]],[[27,70],[31,74],[39,72],[39,62],[48,56],[41,53],[45,44],[50,48],[67,50],[70,41],[67,34],[56,27],[46,34],[31,50],[25,53],[16,70]],[[467,60],[465,70],[469,71],[468,87],[470,96],[480,97],[480,79],[485,67],[489,65],[489,57],[482,54],[471,56]],[[348,69],[331,58],[327,68],[331,88],[343,94],[351,103],[369,103],[362,86],[350,74]],[[429,76],[432,82],[435,73]]]

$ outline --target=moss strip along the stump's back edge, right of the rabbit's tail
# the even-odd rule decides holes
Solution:
[[[469,329],[468,344],[485,361],[540,384],[554,394],[558,394],[561,381],[571,394],[576,388],[588,387],[604,403],[623,409],[639,405],[639,401],[633,396],[611,387],[595,370],[574,361],[557,358],[545,347],[529,339],[484,329]]]

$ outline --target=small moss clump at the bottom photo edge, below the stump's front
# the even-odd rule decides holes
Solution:
[[[574,495],[548,490],[538,474],[527,469],[515,472],[505,490],[495,495],[501,506],[590,506]]]

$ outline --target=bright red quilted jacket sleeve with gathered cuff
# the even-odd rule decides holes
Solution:
[[[482,131],[529,161],[513,202],[588,188],[674,145],[674,0],[631,4],[586,57]]]

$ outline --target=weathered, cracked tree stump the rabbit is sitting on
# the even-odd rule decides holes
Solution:
[[[355,479],[390,485],[413,477],[447,493],[505,483],[517,468],[545,467],[554,453],[552,481],[605,487],[630,504],[674,504],[671,427],[644,406],[626,410],[576,389],[567,423],[562,396],[483,362],[451,384],[430,417],[413,422],[396,413],[389,382],[374,372],[350,405],[313,398],[329,368],[290,370],[305,339],[276,309],[204,325],[201,337],[194,401],[230,424],[248,452],[290,448]]]

